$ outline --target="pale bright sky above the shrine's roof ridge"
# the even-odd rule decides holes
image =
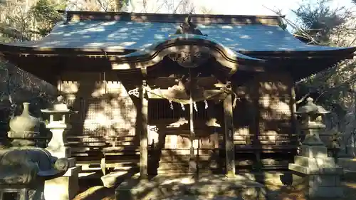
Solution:
[[[69,10],[76,10],[78,6],[78,0],[70,0],[75,2],[75,6]],[[83,0],[85,1],[85,0]],[[112,0],[102,0],[112,1]],[[129,0],[130,6],[125,11],[142,12],[142,2],[144,0]],[[150,13],[172,13],[175,7],[182,1],[187,0],[146,0],[147,12]],[[286,19],[295,21],[295,15],[291,11],[297,9],[302,3],[316,2],[318,0],[188,0],[191,4],[194,4],[195,13],[199,13],[199,8],[204,6],[205,9],[211,10],[214,14],[231,14],[231,15],[276,15],[273,11],[269,10],[281,10],[283,15],[286,15]],[[80,2],[80,0],[79,0]],[[330,7],[337,8],[345,6],[346,8],[354,8],[355,4],[352,0],[331,0]],[[266,8],[267,7],[267,8]],[[143,11],[145,12],[145,11]]]

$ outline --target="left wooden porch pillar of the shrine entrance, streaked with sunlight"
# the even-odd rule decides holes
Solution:
[[[140,178],[147,179],[147,163],[148,163],[148,132],[147,132],[147,113],[148,100],[145,98],[146,80],[142,81],[140,86],[140,109],[137,110],[138,119],[140,119]]]

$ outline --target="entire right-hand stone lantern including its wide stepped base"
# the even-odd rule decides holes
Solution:
[[[319,132],[325,128],[320,117],[326,113],[311,98],[297,111],[303,117],[301,129],[305,132],[305,140],[300,154],[294,157],[294,163],[289,164],[288,169],[293,172],[293,185],[305,189],[312,198],[343,196],[340,185],[342,168],[335,165],[334,158],[328,157],[327,147],[319,137]]]

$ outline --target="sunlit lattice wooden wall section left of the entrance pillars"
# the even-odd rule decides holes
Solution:
[[[115,74],[68,73],[61,76],[58,90],[79,113],[71,116],[68,132],[73,152],[107,146],[137,147],[135,99]],[[85,147],[85,148],[84,148]]]

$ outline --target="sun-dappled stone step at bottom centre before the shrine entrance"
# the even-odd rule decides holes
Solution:
[[[236,175],[226,178],[224,175],[201,175],[199,179],[189,176],[156,176],[150,180],[132,177],[123,181],[115,190],[116,200],[177,199],[266,199],[266,189],[262,184],[246,177]]]

